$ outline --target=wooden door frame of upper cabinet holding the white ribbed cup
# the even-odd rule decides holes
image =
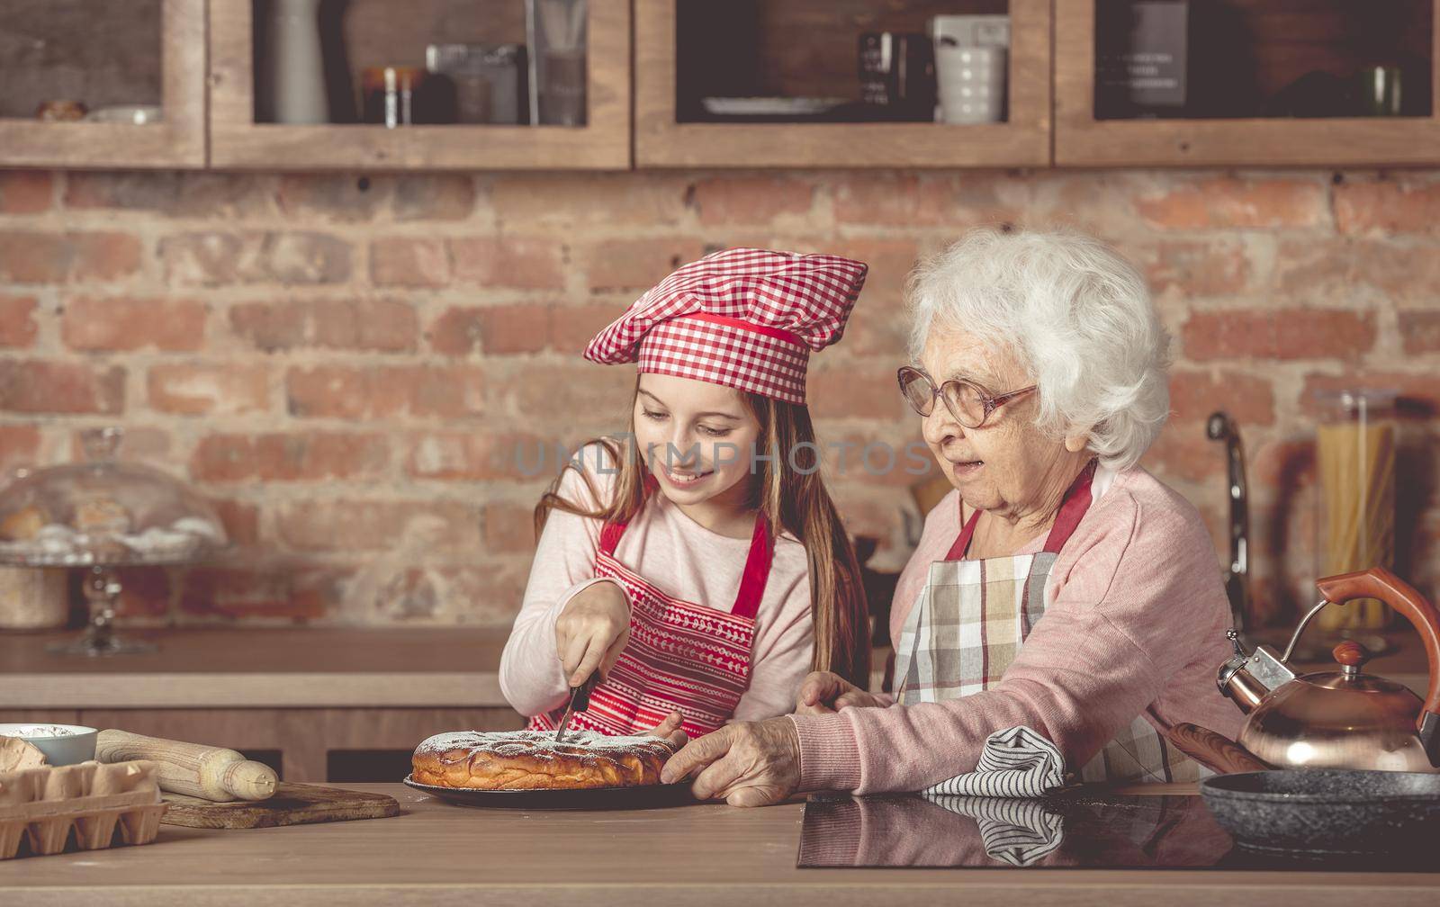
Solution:
[[[1011,0],[1009,121],[677,122],[675,0],[635,0],[635,163],[647,167],[1047,167],[1050,0]]]

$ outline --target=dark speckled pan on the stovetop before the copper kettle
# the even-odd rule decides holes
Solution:
[[[1440,839],[1440,775],[1243,772],[1201,780],[1200,795],[1248,849],[1395,854]]]

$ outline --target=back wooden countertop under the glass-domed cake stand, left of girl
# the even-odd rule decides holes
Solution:
[[[508,707],[510,628],[121,629],[147,655],[78,658],[78,631],[0,633],[3,708]]]

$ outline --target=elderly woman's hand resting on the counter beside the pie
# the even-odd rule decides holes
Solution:
[[[691,741],[670,757],[660,780],[694,776],[698,800],[732,806],[783,803],[801,783],[801,739],[789,718],[736,721]]]

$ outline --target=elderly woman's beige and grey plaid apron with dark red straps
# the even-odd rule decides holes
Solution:
[[[930,564],[896,646],[899,703],[940,703],[989,690],[1005,675],[1030,631],[1045,616],[1045,580],[1090,507],[1094,461],[1066,492],[1038,554],[963,560],[975,511],[946,560]],[[1188,782],[1197,766],[1136,716],[1080,770],[1086,782]],[[1208,773],[1207,773],[1208,775]]]

